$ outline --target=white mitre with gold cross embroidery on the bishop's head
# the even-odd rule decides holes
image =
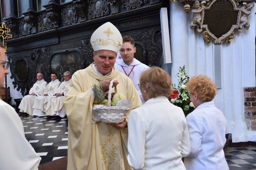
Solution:
[[[122,44],[123,37],[111,22],[104,23],[91,35],[91,46],[94,51],[111,50],[117,53]]]

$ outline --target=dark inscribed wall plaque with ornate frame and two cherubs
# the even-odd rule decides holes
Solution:
[[[203,38],[207,44],[211,41],[214,44],[230,44],[236,36],[235,30],[242,32],[242,27],[246,30],[250,27],[248,15],[253,6],[253,3],[239,4],[236,0],[209,0],[208,3],[195,1],[189,27],[196,28],[198,33],[204,30]]]

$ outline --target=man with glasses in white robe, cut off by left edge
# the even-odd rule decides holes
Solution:
[[[0,87],[9,74],[4,46],[0,43]],[[22,121],[14,108],[0,100],[0,169],[37,169],[40,156],[25,138]]]

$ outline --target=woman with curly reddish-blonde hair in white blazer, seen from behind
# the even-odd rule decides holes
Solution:
[[[212,101],[217,88],[212,80],[199,75],[192,77],[186,86],[196,109],[186,117],[191,143],[190,155],[185,157],[187,170],[228,170],[223,147],[227,121]]]

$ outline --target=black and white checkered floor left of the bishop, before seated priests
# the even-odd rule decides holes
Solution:
[[[26,139],[41,156],[41,164],[68,155],[68,120],[21,115]]]

